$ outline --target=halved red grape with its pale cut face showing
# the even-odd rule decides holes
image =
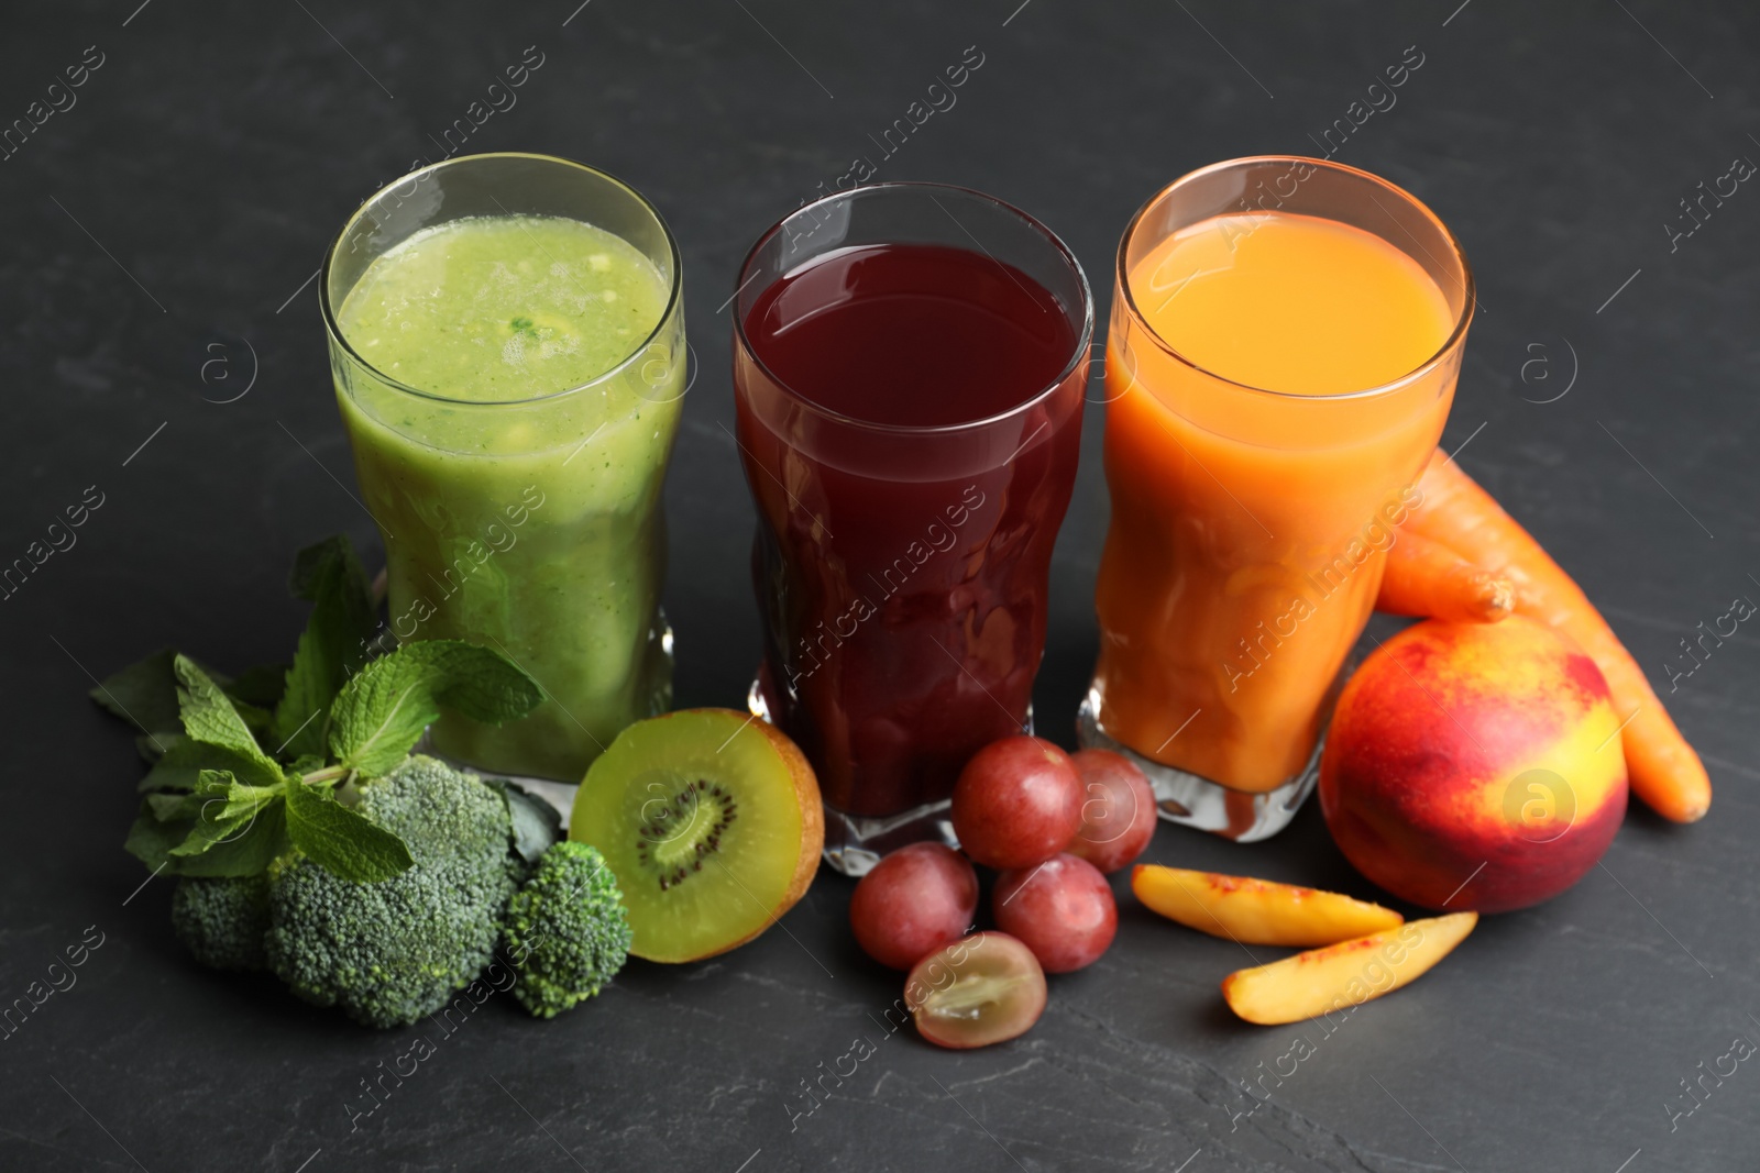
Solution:
[[[977,932],[917,962],[905,1004],[936,1046],[989,1046],[1026,1034],[1045,1013],[1045,973],[1014,937]]]

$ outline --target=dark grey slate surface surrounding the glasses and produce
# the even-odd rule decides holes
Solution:
[[[880,178],[964,183],[1040,216],[1082,259],[1102,313],[1118,234],[1151,192],[1218,158],[1311,153],[1309,135],[1417,46],[1424,65],[1397,106],[1338,158],[1427,200],[1477,269],[1484,301],[1447,441],[1471,438],[1463,464],[1667,688],[1677,640],[1737,594],[1760,600],[1760,188],[1742,185],[1674,251],[1665,229],[1697,183],[1760,160],[1751,5],[591,0],[568,19],[577,0],[136,4],[18,5],[0,37],[4,121],[86,46],[106,55],[77,106],[0,162],[0,561],[88,485],[104,494],[77,545],[0,603],[0,1001],[88,925],[104,934],[77,985],[0,1041],[0,1166],[1697,1173],[1760,1161],[1755,1062],[1674,1131],[1663,1106],[1735,1036],[1760,1041],[1749,631],[1668,696],[1718,786],[1702,825],[1633,809],[1607,871],[1485,922],[1331,1038],[1236,1022],[1216,983],[1246,962],[1239,946],[1146,914],[1123,883],[1118,943],[1052,980],[1026,1038],[949,1053],[884,1036],[899,981],[857,953],[850,883],[824,874],[787,932],[725,958],[635,962],[551,1024],[491,1001],[354,1133],[345,1101],[415,1031],[368,1032],[273,980],[195,967],[167,929],[171,885],[137,892],[143,869],[121,851],[141,772],[130,739],[84,700],[88,672],[167,642],[229,668],[282,658],[304,619],[283,589],[290,552],[347,529],[378,557],[343,489],[303,283],[348,211],[436,158],[429,135],[526,46],[542,69],[466,149],[620,174],[685,251],[702,362],[667,491],[681,703],[737,705],[757,654],[752,510],[720,427],[732,406],[716,308],[734,267],[855,155],[878,162],[868,135],[968,46],[984,65],[957,106]],[[224,362],[204,380],[211,359]],[[209,403],[252,369],[243,399]],[[1563,399],[1524,401],[1572,376]],[[1042,730],[1065,742],[1095,651],[1100,424],[1091,410],[1037,695]],[[1253,848],[1163,827],[1149,858],[1373,895],[1311,805]],[[1243,1082],[1302,1032],[1316,1053],[1236,1118],[1255,1103]],[[859,1036],[876,1053],[792,1129],[801,1082]]]

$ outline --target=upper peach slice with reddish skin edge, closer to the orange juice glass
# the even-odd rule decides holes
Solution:
[[[1139,863],[1130,874],[1130,888],[1162,916],[1241,944],[1336,944],[1404,922],[1390,907],[1338,892],[1160,863]]]

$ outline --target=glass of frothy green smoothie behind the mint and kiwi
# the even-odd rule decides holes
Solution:
[[[398,640],[496,647],[546,693],[440,753],[579,781],[672,689],[665,477],[686,366],[679,260],[627,185],[470,155],[373,195],[324,264],[336,401]]]

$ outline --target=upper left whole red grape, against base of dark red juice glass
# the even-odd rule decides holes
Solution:
[[[959,772],[952,820],[959,846],[986,867],[1044,863],[1082,825],[1082,779],[1051,742],[1005,737]]]

